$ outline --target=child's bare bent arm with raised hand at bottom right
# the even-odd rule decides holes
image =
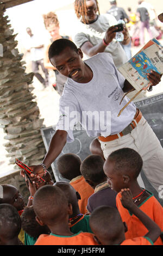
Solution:
[[[148,233],[145,236],[149,237],[149,239],[155,242],[161,234],[161,229],[159,226],[151,218],[149,218],[145,212],[141,211],[139,207],[134,204],[132,199],[133,196],[129,188],[124,188],[121,190],[121,194],[121,203],[123,207],[139,218],[143,225],[145,225],[145,227],[148,229]]]

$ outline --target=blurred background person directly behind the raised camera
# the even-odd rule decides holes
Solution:
[[[130,21],[126,11],[122,7],[117,7],[117,2],[116,1],[109,1],[111,8],[106,12],[108,14],[113,15],[117,21],[123,20],[125,23],[128,23]],[[121,43],[124,51],[126,52],[127,58],[131,58],[131,41],[129,44],[124,45]]]

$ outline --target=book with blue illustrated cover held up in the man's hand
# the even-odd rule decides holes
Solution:
[[[150,40],[118,70],[138,92],[146,90],[150,86],[147,73],[163,73],[163,46],[156,39]]]

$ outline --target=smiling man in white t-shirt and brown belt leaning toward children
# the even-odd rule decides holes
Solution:
[[[41,165],[31,168],[43,175],[66,142],[74,140],[73,128],[80,122],[87,135],[99,138],[105,159],[117,148],[139,151],[147,178],[159,190],[163,179],[163,149],[158,138],[133,102],[117,117],[120,108],[129,101],[124,97],[120,106],[124,93],[133,87],[118,72],[111,54],[98,53],[84,62],[82,58],[82,51],[67,39],[56,40],[49,48],[52,65],[68,79],[60,97],[60,118],[48,153]],[[148,79],[155,86],[161,76],[152,71]]]

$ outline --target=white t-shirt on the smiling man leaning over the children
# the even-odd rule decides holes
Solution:
[[[89,83],[67,79],[60,97],[60,118],[56,130],[67,131],[67,142],[72,142],[73,128],[82,124],[90,137],[109,136],[121,132],[133,120],[136,107],[133,102],[117,117],[129,101],[124,97],[125,78],[116,69],[109,53],[98,53],[84,61],[92,70]]]

